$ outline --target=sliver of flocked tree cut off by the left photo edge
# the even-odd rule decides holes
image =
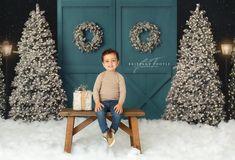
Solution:
[[[2,67],[2,54],[0,54],[0,117],[4,118],[5,108],[6,108],[6,94],[5,94],[5,83],[4,83],[4,75],[1,70]]]

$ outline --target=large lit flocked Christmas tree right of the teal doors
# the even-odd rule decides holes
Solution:
[[[164,118],[217,125],[224,119],[224,96],[215,63],[215,43],[205,11],[191,11],[180,41],[180,58],[167,96]]]

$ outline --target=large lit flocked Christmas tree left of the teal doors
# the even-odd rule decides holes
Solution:
[[[58,112],[64,108],[66,97],[55,60],[55,42],[43,14],[37,4],[18,43],[20,61],[9,99],[14,120],[59,119]]]

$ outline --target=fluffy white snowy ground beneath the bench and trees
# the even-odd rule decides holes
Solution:
[[[77,119],[81,121],[82,119]],[[126,121],[124,121],[126,123]],[[140,120],[143,154],[131,148],[122,130],[108,148],[97,121],[63,152],[66,120],[24,123],[0,120],[1,160],[235,160],[235,121],[217,128],[184,122]]]

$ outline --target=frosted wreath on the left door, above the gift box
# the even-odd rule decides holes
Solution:
[[[85,32],[90,31],[93,34],[93,38],[90,42],[87,42]],[[94,22],[83,22],[78,25],[74,31],[74,43],[82,52],[92,52],[101,46],[103,42],[103,31]]]

